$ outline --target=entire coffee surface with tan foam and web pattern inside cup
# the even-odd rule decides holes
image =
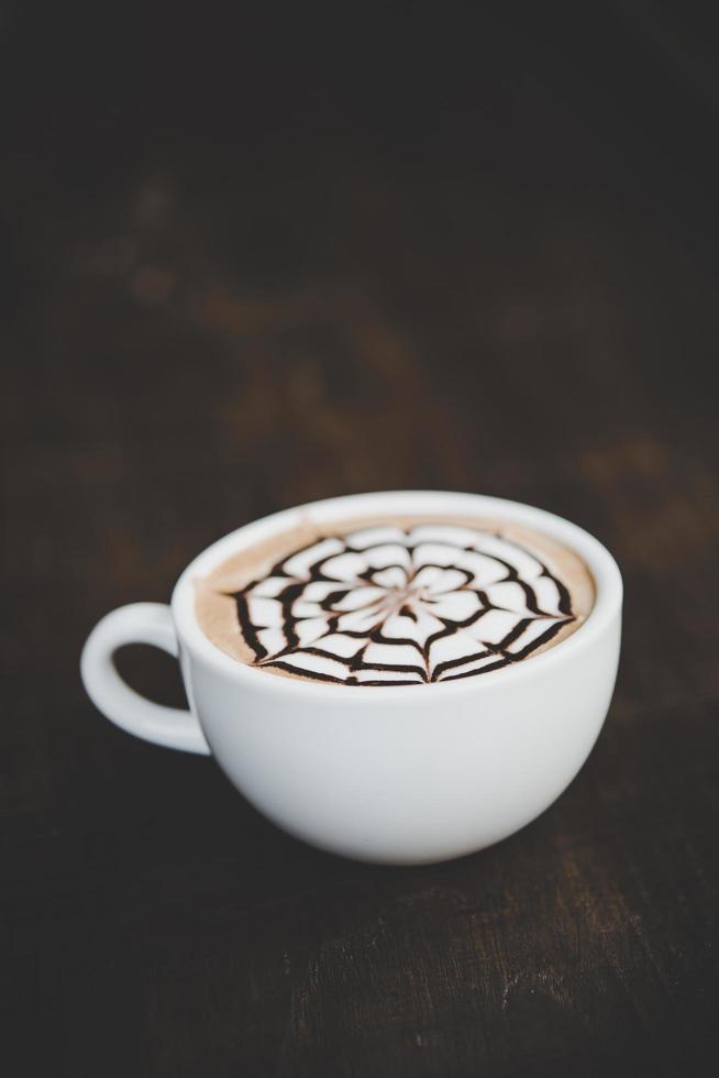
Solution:
[[[575,632],[589,570],[500,520],[375,517],[291,530],[196,581],[204,635],[240,662],[342,685],[414,685],[508,669]]]

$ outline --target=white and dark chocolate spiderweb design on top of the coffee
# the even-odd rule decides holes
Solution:
[[[231,595],[255,666],[345,685],[487,673],[575,620],[566,586],[534,554],[442,524],[321,539]]]

